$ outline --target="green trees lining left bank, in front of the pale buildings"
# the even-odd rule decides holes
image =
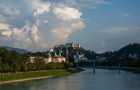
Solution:
[[[71,62],[45,64],[43,58],[35,58],[34,63],[30,63],[29,54],[19,54],[15,51],[8,51],[5,48],[0,48],[1,73],[65,69],[74,66],[75,64]]]

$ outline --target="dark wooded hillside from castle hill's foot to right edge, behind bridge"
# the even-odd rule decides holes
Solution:
[[[114,52],[105,52],[94,54],[94,52],[85,53],[89,60],[96,60],[96,66],[118,66],[121,67],[140,67],[140,44],[133,43],[126,45]],[[91,62],[80,62],[81,66],[93,66]]]

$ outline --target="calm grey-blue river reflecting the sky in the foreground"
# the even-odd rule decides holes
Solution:
[[[140,90],[140,74],[86,68],[72,75],[0,86],[0,90]]]

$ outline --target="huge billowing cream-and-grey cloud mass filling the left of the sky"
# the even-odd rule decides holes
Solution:
[[[8,7],[5,3],[0,4],[0,10],[8,8],[0,12],[0,18],[6,18],[6,21],[4,19],[0,21],[2,36],[0,41],[12,47],[31,51],[46,50],[52,45],[67,42],[72,33],[83,30],[86,26],[81,18],[80,9],[65,2],[46,0],[18,2],[20,2],[18,6],[14,6],[16,1],[11,2],[14,4],[8,4]],[[9,17],[17,20],[12,22]]]

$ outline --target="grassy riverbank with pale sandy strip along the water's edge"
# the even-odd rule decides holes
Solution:
[[[3,73],[0,74],[0,84],[15,83],[29,80],[45,79],[56,76],[64,76],[71,73],[78,73],[83,71],[81,68],[45,70],[33,72],[17,72],[17,73]]]

